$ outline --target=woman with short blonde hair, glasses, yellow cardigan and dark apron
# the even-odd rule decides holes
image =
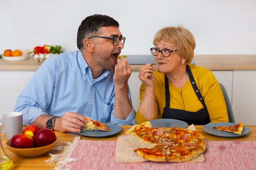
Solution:
[[[189,64],[195,39],[183,26],[157,31],[150,48],[157,70],[148,63],[139,70],[140,104],[136,122],[169,118],[188,124],[229,122],[220,85],[210,70]]]

